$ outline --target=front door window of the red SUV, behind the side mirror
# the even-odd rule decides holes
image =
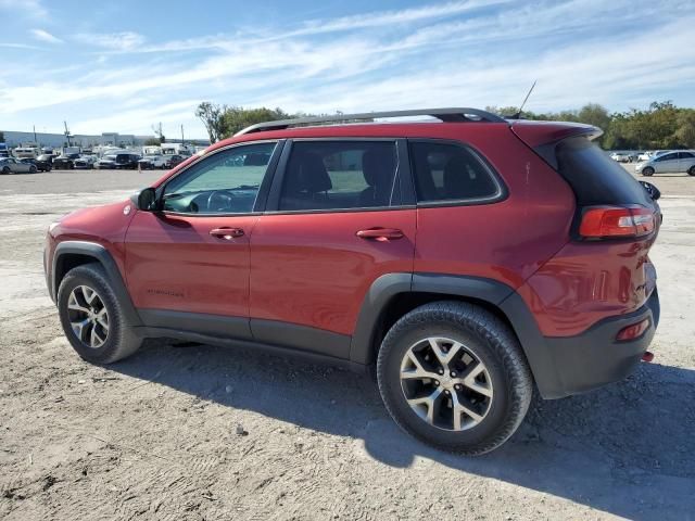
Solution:
[[[199,161],[166,185],[164,209],[186,214],[253,212],[276,144],[244,144]]]

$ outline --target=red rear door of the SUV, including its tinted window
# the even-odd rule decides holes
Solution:
[[[396,139],[288,143],[251,236],[254,340],[349,357],[369,287],[413,270],[405,154]]]

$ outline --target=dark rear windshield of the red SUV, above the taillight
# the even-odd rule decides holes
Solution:
[[[652,200],[636,179],[586,138],[560,141],[555,156],[557,171],[572,187],[579,205],[652,206]]]

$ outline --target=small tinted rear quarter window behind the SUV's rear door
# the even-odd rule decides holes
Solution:
[[[466,147],[413,141],[410,155],[418,202],[484,200],[502,194],[488,166]]]

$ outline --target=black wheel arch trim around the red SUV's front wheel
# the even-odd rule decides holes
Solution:
[[[142,321],[132,305],[116,262],[109,250],[96,242],[63,241],[55,246],[49,282],[51,296],[54,297],[54,301],[58,302],[58,289],[65,275],[77,266],[90,263],[99,263],[104,269],[130,326],[141,326]]]

